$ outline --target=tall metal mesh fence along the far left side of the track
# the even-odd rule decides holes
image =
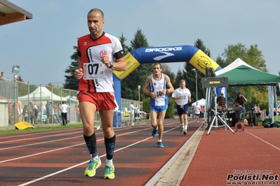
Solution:
[[[63,89],[62,87],[35,85],[32,83],[21,83],[16,80],[0,79],[0,127],[13,125],[17,122],[36,123],[33,120],[33,108],[30,106],[32,101],[39,109],[38,123],[46,124],[61,122],[60,105],[64,101],[70,106],[67,110],[68,122],[81,122],[79,115],[79,101],[76,99],[76,90]],[[50,112],[50,117],[46,116],[46,103],[50,102],[53,112]],[[145,123],[146,118],[149,120],[149,115],[142,111],[142,102],[131,99],[121,99],[121,110],[115,110],[121,113],[121,126],[130,123],[131,113],[128,111],[128,106],[131,102],[140,106],[139,115],[135,117],[135,123]],[[23,108],[27,108],[28,114],[22,115]],[[14,117],[15,116],[15,117]],[[139,117],[138,117],[139,116]],[[95,114],[95,122],[100,124],[100,115]]]

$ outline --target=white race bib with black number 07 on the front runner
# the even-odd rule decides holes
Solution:
[[[105,65],[102,63],[85,63],[84,80],[105,78]]]

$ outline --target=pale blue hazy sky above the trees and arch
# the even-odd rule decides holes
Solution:
[[[199,38],[215,61],[229,44],[258,45],[269,73],[280,71],[279,0],[8,0],[32,13],[31,20],[0,27],[0,71],[13,79],[20,65],[25,82],[62,85],[77,38],[89,33],[86,15],[105,14],[103,31],[127,38],[138,29],[154,47],[194,45]],[[168,64],[177,73],[183,62]]]

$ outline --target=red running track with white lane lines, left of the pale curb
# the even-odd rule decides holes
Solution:
[[[180,134],[178,120],[166,120],[158,148],[150,124],[115,129],[114,180],[104,180],[105,145],[97,131],[102,165],[93,178],[84,176],[88,150],[82,129],[41,131],[0,136],[0,185],[145,185],[177,152],[200,124]]]

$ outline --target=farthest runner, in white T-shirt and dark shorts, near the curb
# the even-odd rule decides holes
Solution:
[[[187,114],[189,111],[189,103],[192,102],[191,92],[186,88],[186,81],[180,80],[179,86],[172,94],[172,99],[175,100],[176,108],[178,111],[180,123],[181,123],[181,133],[187,134]]]

